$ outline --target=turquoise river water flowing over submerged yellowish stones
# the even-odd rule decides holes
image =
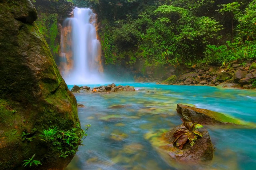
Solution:
[[[256,123],[256,90],[210,86],[115,83],[134,86],[135,92],[75,94],[81,127],[88,135],[65,170],[169,170],[256,168],[256,129],[243,126],[204,126],[213,143],[213,160],[170,164],[148,140],[150,133],[181,124],[177,104],[224,113]],[[105,84],[107,85],[107,84]],[[91,88],[99,85],[87,85]],[[69,89],[72,86],[68,86]]]

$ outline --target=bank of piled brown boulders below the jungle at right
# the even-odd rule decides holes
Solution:
[[[181,68],[177,68],[181,69]],[[210,85],[229,88],[256,88],[256,62],[233,61],[222,66],[203,66],[201,68],[184,68],[182,73],[173,71],[172,75],[166,80],[148,77],[137,77],[136,82],[152,82],[159,84],[175,85]]]

